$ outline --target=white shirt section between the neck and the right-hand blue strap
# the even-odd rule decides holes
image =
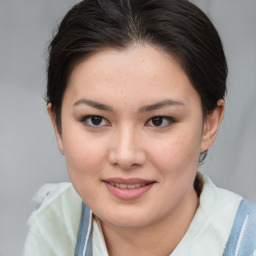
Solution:
[[[173,255],[220,256],[228,241],[242,197],[218,188],[200,174],[203,187],[199,206],[187,233]]]

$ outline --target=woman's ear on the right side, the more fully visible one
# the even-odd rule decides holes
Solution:
[[[224,100],[218,100],[217,107],[205,118],[201,141],[201,152],[207,151],[215,141],[220,123],[224,116],[224,108]]]

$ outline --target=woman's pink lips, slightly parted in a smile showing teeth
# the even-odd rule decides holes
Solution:
[[[103,180],[109,192],[122,200],[134,200],[142,196],[156,183],[139,178],[111,178]]]

